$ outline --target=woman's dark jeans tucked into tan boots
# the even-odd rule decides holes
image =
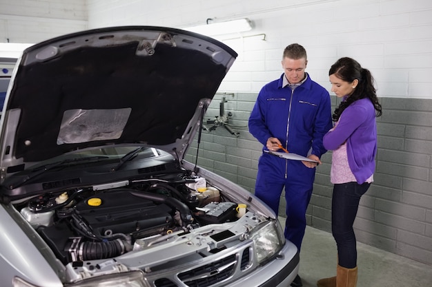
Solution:
[[[334,184],[331,201],[331,230],[337,244],[339,265],[345,268],[357,266],[357,246],[353,223],[362,195],[371,184],[348,182]]]

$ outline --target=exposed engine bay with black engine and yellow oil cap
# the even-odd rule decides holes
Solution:
[[[204,178],[147,179],[46,193],[19,206],[63,263],[107,259],[136,240],[238,220],[237,203]]]

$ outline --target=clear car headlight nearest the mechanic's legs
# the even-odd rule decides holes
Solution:
[[[276,221],[267,222],[261,228],[255,228],[250,238],[255,243],[255,257],[259,264],[273,257],[285,244],[284,233]]]

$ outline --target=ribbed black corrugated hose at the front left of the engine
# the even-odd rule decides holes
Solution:
[[[81,261],[106,259],[123,254],[125,249],[119,239],[108,242],[83,242],[79,244],[78,256]]]

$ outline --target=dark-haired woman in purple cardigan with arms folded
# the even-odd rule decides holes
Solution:
[[[320,279],[318,287],[355,287],[357,247],[353,223],[360,198],[373,182],[377,152],[375,117],[381,116],[373,77],[351,58],[341,58],[328,72],[331,91],[342,103],[335,109],[333,129],[324,136],[324,147],[333,151],[331,226],[337,244],[335,277]]]

